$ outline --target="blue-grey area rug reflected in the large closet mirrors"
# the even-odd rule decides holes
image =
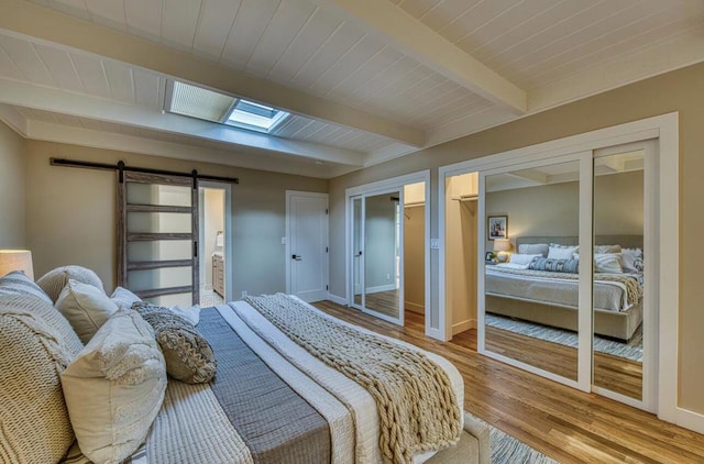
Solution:
[[[534,339],[547,342],[559,343],[565,346],[578,346],[578,334],[569,330],[554,329],[517,319],[505,318],[496,314],[486,314],[487,325],[496,329],[507,330]],[[616,340],[594,336],[594,350],[600,353],[612,354],[627,360],[642,362],[642,325],[638,328],[628,343]]]

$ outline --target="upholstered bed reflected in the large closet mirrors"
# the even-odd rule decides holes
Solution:
[[[527,244],[574,245],[575,236],[525,236],[516,239],[516,250]],[[597,235],[595,245],[620,245],[642,250],[642,235]],[[554,276],[554,277],[553,277]],[[637,283],[640,274],[601,275],[594,286],[594,333],[628,340],[642,322],[642,298],[630,298],[627,286]],[[569,277],[569,278],[568,278]],[[627,284],[627,285],[626,285]],[[486,312],[576,331],[576,275],[534,270],[512,270],[486,266]]]

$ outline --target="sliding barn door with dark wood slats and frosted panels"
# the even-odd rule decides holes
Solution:
[[[198,180],[121,172],[118,280],[160,306],[199,300]]]

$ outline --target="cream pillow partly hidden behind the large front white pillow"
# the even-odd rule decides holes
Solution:
[[[118,307],[102,290],[69,279],[56,300],[56,309],[68,319],[80,341],[88,343]]]

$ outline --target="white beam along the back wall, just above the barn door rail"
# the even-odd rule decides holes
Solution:
[[[92,129],[67,126],[53,122],[30,120],[28,121],[28,137],[37,141],[213,163],[246,169],[267,170],[323,179],[329,179],[356,169],[355,167],[343,165],[317,165],[301,158],[292,158],[290,156],[277,155],[270,152],[235,153],[226,150],[184,145],[134,135],[96,131]]]

